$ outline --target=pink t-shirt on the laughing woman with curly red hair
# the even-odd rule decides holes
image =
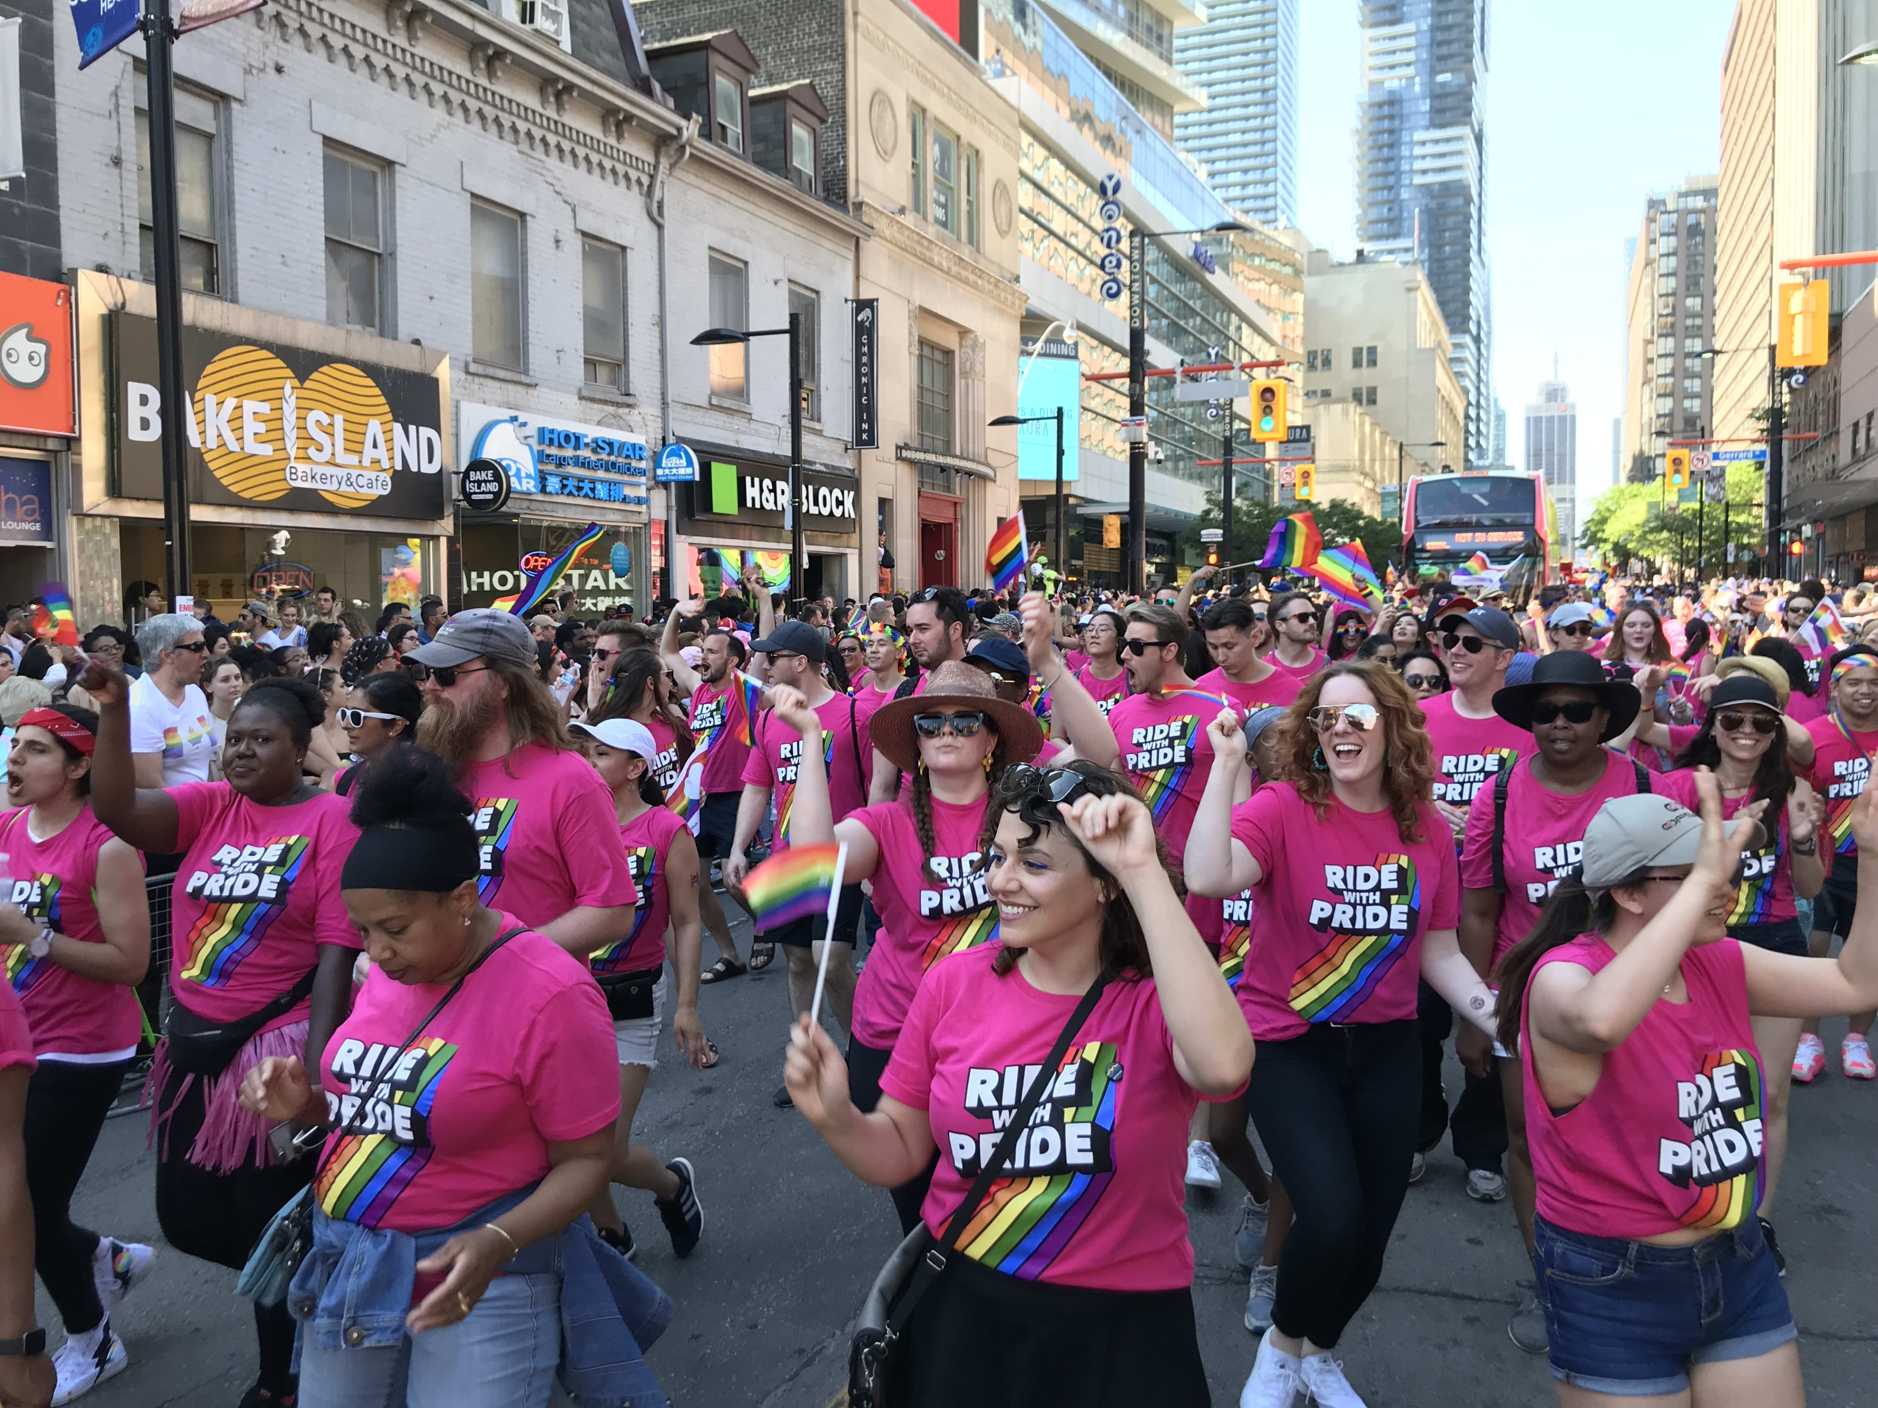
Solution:
[[[1461,912],[1459,865],[1433,807],[1420,835],[1403,845],[1388,811],[1350,811],[1335,796],[1320,819],[1290,783],[1266,783],[1232,809],[1232,837],[1264,871],[1239,980],[1253,1036],[1414,1016],[1422,941]]]

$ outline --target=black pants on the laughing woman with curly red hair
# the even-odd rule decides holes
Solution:
[[[1313,1025],[1260,1042],[1245,1108],[1298,1220],[1279,1258],[1271,1324],[1330,1350],[1382,1277],[1422,1089],[1414,1019]]]

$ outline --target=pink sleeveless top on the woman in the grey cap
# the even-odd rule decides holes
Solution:
[[[1617,957],[1585,933],[1540,957],[1598,972]],[[1726,1232],[1762,1194],[1762,1064],[1748,1019],[1741,944],[1683,954],[1688,1001],[1658,999],[1579,1104],[1555,1115],[1532,1072],[1531,1014],[1519,1021],[1527,1138],[1538,1213],[1593,1237]],[[1531,986],[1527,989],[1531,993]]]

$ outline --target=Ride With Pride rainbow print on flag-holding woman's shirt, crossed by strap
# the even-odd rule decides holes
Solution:
[[[997,1147],[1003,1126],[995,1111],[1014,1111],[1022,1102],[1025,1070],[1012,1064],[967,1072],[965,1113],[997,1126],[982,1138],[947,1132],[941,1156],[967,1183],[978,1175],[978,1158]],[[1070,1048],[1037,1106],[1037,1119],[1012,1149],[1010,1166],[1020,1177],[995,1181],[960,1233],[965,1256],[1024,1280],[1050,1269],[1116,1177],[1112,1140],[1121,1076],[1114,1042]]]

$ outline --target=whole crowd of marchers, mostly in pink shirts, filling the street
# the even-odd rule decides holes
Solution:
[[[659,1400],[627,1217],[684,1258],[704,1209],[635,1113],[777,950],[774,1104],[907,1237],[881,1402],[1208,1402],[1185,1190],[1232,1175],[1241,1408],[1360,1408],[1335,1352],[1442,1141],[1561,1402],[1803,1400],[1790,1087],[1822,1016],[1878,1074],[1863,589],[163,606],[0,631],[6,1408],[122,1372],[171,1252],[240,1273],[242,1408]],[[768,926],[794,847],[838,894]],[[71,1215],[137,1079],[163,1248]]]

